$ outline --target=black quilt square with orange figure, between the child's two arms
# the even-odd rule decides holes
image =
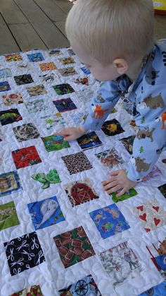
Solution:
[[[124,132],[124,129],[122,129],[120,122],[117,122],[116,119],[107,120],[106,122],[103,123],[103,126],[101,126],[101,129],[103,133],[106,134],[107,136],[115,136]]]

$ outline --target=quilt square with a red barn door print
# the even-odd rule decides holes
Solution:
[[[98,195],[88,178],[65,184],[65,192],[68,195],[72,206],[78,206],[81,203],[86,203],[92,199],[98,199]]]

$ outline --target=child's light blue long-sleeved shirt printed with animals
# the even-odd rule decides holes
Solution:
[[[154,45],[134,83],[126,75],[101,83],[89,102],[84,129],[100,130],[120,97],[139,126],[127,168],[127,177],[138,182],[166,150],[166,40]]]

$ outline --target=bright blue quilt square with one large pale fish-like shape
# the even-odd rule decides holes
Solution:
[[[31,214],[34,230],[48,227],[65,220],[56,196],[34,203],[28,203],[27,206]]]

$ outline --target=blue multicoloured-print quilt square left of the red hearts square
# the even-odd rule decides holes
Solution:
[[[129,224],[115,204],[89,213],[101,237],[106,239],[119,232],[128,230]]]

